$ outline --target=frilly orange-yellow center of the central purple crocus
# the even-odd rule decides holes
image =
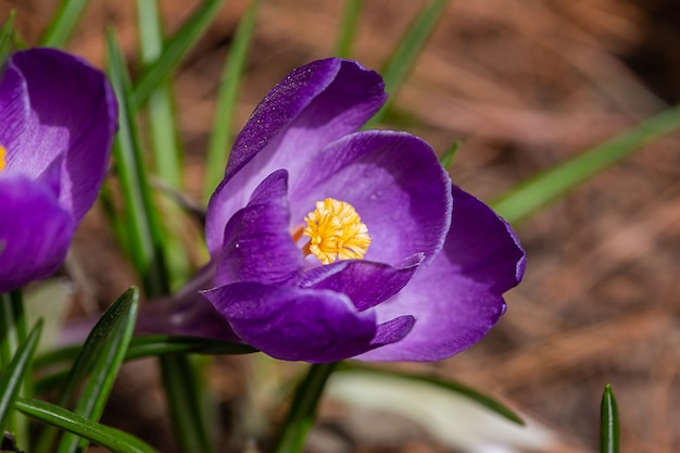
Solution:
[[[315,205],[316,209],[304,217],[307,226],[302,235],[310,238],[305,253],[324,264],[364,257],[370,236],[354,206],[332,198],[317,201]]]

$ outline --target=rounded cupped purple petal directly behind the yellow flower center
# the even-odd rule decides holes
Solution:
[[[327,197],[356,209],[372,238],[365,259],[400,266],[427,264],[451,223],[451,180],[432,149],[405,133],[370,130],[330,144],[297,179],[290,177],[293,227]]]

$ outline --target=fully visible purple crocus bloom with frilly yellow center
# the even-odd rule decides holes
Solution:
[[[357,131],[385,100],[377,73],[338,59],[269,91],[210,200],[211,263],[192,286],[212,307],[180,298],[166,331],[313,363],[437,361],[489,331],[524,251],[426,142]]]

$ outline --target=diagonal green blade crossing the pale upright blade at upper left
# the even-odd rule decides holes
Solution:
[[[163,53],[144,67],[135,85],[131,105],[147,102],[155,88],[179,65],[182,58],[203,35],[225,0],[205,0],[163,47]]]

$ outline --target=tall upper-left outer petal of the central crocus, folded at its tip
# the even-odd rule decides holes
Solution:
[[[224,225],[266,175],[286,168],[293,177],[326,144],[361,127],[386,97],[379,74],[338,59],[302,66],[276,85],[238,136],[225,179],[211,198],[211,254],[221,248]]]

